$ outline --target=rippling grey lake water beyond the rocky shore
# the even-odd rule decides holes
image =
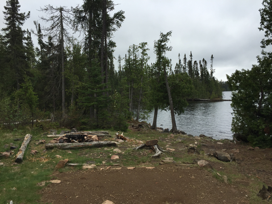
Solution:
[[[231,99],[231,92],[223,92],[223,99]],[[175,115],[176,127],[187,134],[199,136],[205,134],[214,139],[232,139],[232,108],[231,101],[189,102],[181,115]],[[154,112],[147,120],[152,125]],[[158,111],[157,127],[172,128],[170,111]]]

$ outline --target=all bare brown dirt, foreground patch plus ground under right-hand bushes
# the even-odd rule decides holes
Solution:
[[[177,137],[179,136],[158,138],[159,141],[166,142],[176,150],[173,153],[174,157],[188,156],[187,150],[185,150],[186,147],[189,147],[187,144],[199,142],[196,138],[187,138],[186,144],[176,143]],[[113,169],[117,167],[111,167],[107,170],[100,170],[99,167],[85,171],[73,171],[73,173],[56,172],[53,177],[61,182],[49,184],[44,188],[40,192],[42,201],[58,204],[102,204],[105,200],[110,200],[115,204],[240,204],[249,203],[250,193],[252,193],[249,186],[253,181],[272,186],[272,149],[249,151],[247,144],[235,144],[231,141],[224,141],[224,144],[216,142],[218,141],[202,139],[202,150],[205,154],[215,151],[234,153],[236,161],[226,163],[214,158],[208,160],[206,155],[199,155],[202,158],[196,160],[201,160],[204,157],[212,165],[213,170],[202,169],[197,165],[164,164],[156,166],[154,169],[136,167],[134,170],[129,170],[126,167],[121,167],[120,170],[117,170]],[[233,149],[239,149],[239,153],[235,153]],[[197,164],[195,160],[184,163]],[[143,166],[148,167],[152,164],[143,164]],[[228,179],[228,184],[226,184],[213,175],[214,171],[232,175],[232,179]]]

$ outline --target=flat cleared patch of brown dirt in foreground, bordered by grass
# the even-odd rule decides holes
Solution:
[[[42,190],[49,203],[249,203],[241,186],[225,184],[198,167],[172,164],[154,169],[86,170],[56,173],[60,183]]]

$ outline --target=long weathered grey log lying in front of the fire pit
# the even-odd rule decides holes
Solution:
[[[93,147],[105,147],[116,146],[112,141],[99,141],[99,142],[82,142],[82,143],[57,143],[57,144],[45,144],[46,149],[53,149],[54,147],[60,149],[79,149],[79,148],[93,148]]]

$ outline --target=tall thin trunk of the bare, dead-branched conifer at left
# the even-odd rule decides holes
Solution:
[[[62,67],[62,118],[65,115],[65,78],[64,78],[64,39],[63,39],[63,16],[60,10],[60,34],[61,34],[61,67]]]

